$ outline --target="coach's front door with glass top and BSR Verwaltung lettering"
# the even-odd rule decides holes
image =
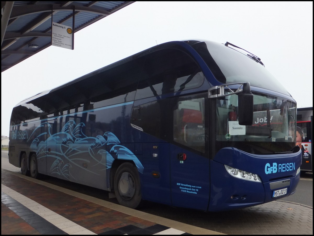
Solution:
[[[209,159],[205,156],[208,128],[205,96],[195,94],[171,101],[171,201],[176,207],[206,211],[209,202]],[[203,154],[202,154],[203,153]]]

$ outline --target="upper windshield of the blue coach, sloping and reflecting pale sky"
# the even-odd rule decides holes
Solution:
[[[279,81],[260,63],[237,50],[216,42],[199,42],[192,46],[203,58],[220,83],[248,81],[251,86],[290,96]],[[233,48],[231,48],[233,49]]]

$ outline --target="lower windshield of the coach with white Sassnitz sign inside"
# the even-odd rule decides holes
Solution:
[[[253,124],[239,125],[238,96],[216,100],[216,151],[236,147],[252,154],[289,152],[295,147],[296,104],[287,99],[254,94]]]

